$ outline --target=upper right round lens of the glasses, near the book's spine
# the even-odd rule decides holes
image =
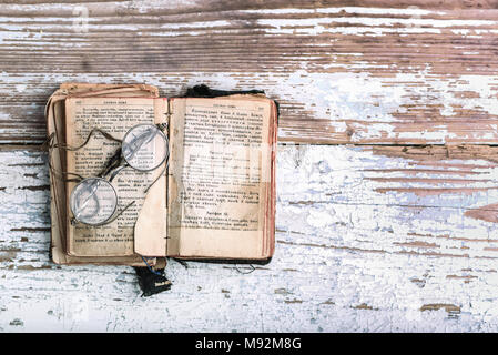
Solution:
[[[140,171],[151,171],[167,156],[167,138],[154,124],[139,124],[128,131],[122,142],[126,163]]]

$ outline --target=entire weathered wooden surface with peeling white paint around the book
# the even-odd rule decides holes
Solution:
[[[0,331],[498,331],[498,1],[0,4]],[[11,2],[11,3],[9,3]],[[281,103],[276,252],[241,274],[49,258],[61,82]]]

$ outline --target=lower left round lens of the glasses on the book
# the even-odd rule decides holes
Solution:
[[[70,196],[70,209],[78,221],[98,225],[109,221],[118,206],[118,194],[108,181],[100,178],[84,179]]]

